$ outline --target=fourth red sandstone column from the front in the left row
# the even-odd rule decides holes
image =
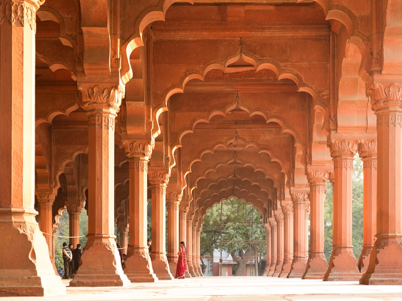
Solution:
[[[164,170],[148,172],[152,193],[152,252],[155,275],[160,280],[173,280],[166,258],[166,186],[170,174]],[[178,211],[178,205],[176,206]]]

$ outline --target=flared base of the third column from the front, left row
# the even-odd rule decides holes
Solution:
[[[152,269],[148,247],[129,246],[124,273],[131,282],[156,282],[158,278]]]

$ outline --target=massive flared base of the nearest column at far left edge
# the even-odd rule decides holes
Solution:
[[[0,209],[0,297],[65,294],[66,288],[50,262],[46,239],[35,221],[36,212],[25,216],[28,209],[21,209],[17,220],[5,221],[11,217],[2,216],[2,211],[6,210]]]

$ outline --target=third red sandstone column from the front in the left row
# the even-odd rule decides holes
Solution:
[[[152,148],[152,141],[125,140],[130,173],[130,239],[124,272],[133,282],[158,280],[147,246],[147,174]]]

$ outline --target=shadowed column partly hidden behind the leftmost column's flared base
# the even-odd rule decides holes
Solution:
[[[54,247],[53,247],[54,236],[49,235],[53,234],[52,206],[56,194],[57,191],[36,192],[36,198],[38,199],[38,203],[40,205],[40,221],[41,221],[40,229],[43,233],[47,233],[43,235],[45,236],[49,248],[50,261],[52,262],[55,272],[57,273],[56,266],[54,264]]]

